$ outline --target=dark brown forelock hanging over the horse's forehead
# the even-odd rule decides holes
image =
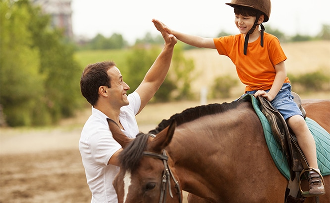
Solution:
[[[125,170],[133,171],[139,166],[147,146],[149,135],[139,133],[136,138],[128,144],[119,154],[118,160],[120,167]]]

